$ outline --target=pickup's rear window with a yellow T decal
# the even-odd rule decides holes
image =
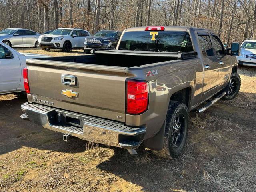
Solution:
[[[118,49],[132,51],[186,52],[193,51],[193,46],[187,32],[134,31],[124,33]]]

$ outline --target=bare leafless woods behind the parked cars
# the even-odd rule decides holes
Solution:
[[[256,39],[256,0],[0,0],[0,11],[0,29],[173,25],[212,29],[227,44]]]

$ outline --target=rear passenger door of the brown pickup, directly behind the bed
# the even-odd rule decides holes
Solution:
[[[212,42],[208,32],[197,32],[198,43],[202,52],[204,68],[203,96],[202,100],[208,99],[216,93],[218,88],[219,63],[214,55]]]

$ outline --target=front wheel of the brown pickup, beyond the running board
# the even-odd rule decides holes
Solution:
[[[226,95],[222,100],[232,100],[236,97],[240,90],[241,78],[238,73],[232,73],[228,85],[226,86]]]

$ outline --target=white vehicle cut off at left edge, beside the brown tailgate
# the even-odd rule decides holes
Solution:
[[[22,69],[26,59],[48,57],[38,54],[22,54],[0,42],[0,94],[25,91]]]

